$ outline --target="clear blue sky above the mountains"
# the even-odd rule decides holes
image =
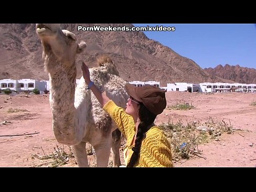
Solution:
[[[255,24],[133,24],[135,27],[168,26],[175,31],[143,31],[145,35],[201,68],[240,65],[256,69]]]

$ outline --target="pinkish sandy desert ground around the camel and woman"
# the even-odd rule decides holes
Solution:
[[[218,141],[198,146],[201,157],[174,161],[175,167],[255,167],[256,166],[256,93],[188,93],[166,92],[167,106],[191,103],[196,109],[187,111],[165,109],[156,123],[172,120],[225,120],[233,134],[222,134]],[[47,167],[56,148],[69,153],[69,147],[57,143],[51,128],[49,95],[0,95],[0,166]],[[19,136],[14,136],[20,134]],[[27,134],[27,135],[23,135]],[[13,136],[12,136],[13,135]],[[58,147],[57,147],[58,146]],[[122,147],[120,148],[123,163]],[[204,157],[204,158],[202,158]],[[94,155],[88,155],[90,166],[95,166]],[[111,166],[111,157],[109,161]],[[77,166],[70,158],[63,166]]]

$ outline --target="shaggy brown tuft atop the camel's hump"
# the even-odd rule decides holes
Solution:
[[[108,55],[102,55],[97,59],[97,63],[100,67],[103,67],[106,71],[108,71],[111,74],[115,74],[116,76],[119,76],[119,72],[116,69],[116,66],[114,65],[113,60]]]

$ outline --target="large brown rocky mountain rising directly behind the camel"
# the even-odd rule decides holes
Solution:
[[[31,78],[48,80],[42,63],[41,42],[35,24],[0,24],[0,79]],[[87,43],[87,51],[77,57],[77,78],[81,61],[95,67],[99,55],[109,54],[126,81],[233,82],[209,74],[193,60],[149,39],[141,31],[82,31],[78,26],[127,26],[131,24],[61,24]]]

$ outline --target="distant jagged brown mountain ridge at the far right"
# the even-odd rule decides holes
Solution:
[[[205,68],[212,76],[217,76],[224,79],[239,83],[256,83],[256,69],[240,67],[239,65],[230,66],[226,64],[224,67],[218,65],[215,68]]]

